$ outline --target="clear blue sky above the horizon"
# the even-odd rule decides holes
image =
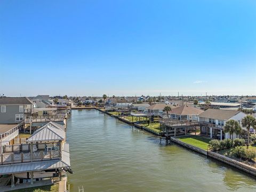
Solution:
[[[0,1],[0,93],[256,94],[256,1]]]

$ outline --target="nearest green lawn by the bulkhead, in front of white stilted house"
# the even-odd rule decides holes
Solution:
[[[180,141],[188,143],[189,145],[193,145],[195,147],[207,150],[207,146],[211,139],[207,139],[204,137],[199,137],[196,135],[182,136],[178,138]]]

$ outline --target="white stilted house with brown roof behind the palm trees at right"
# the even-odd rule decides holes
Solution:
[[[223,126],[229,119],[234,119],[241,123],[242,119],[246,116],[242,111],[234,110],[221,110],[221,109],[207,109],[203,113],[199,114],[199,122],[205,122],[204,126],[201,126],[201,133],[210,135],[210,137],[222,139]],[[234,138],[238,135],[234,133]],[[229,138],[229,133],[225,134],[225,139]]]

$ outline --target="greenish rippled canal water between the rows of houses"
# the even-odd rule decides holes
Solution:
[[[254,178],[98,110],[72,110],[67,141],[71,191],[256,191]]]

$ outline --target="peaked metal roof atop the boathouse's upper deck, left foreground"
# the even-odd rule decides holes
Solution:
[[[28,142],[31,141],[54,141],[54,140],[64,140],[66,138],[66,133],[60,126],[56,123],[49,122],[42,126],[40,129],[36,130],[33,135],[28,138]]]

